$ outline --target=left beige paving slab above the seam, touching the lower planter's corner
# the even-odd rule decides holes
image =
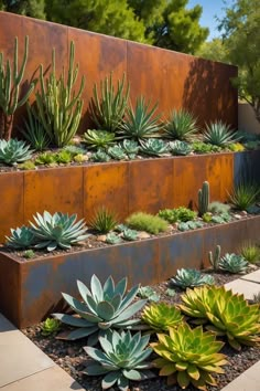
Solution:
[[[0,317],[0,388],[55,366],[29,338]]]

